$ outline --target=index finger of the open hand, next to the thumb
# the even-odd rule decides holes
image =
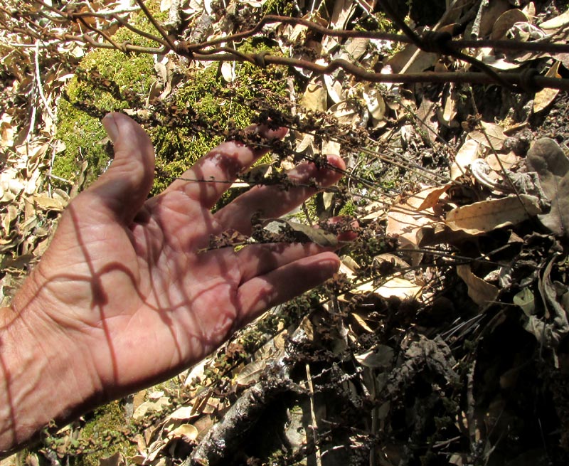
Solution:
[[[269,129],[265,125],[250,127],[248,131],[259,134],[267,144],[285,137],[287,133],[286,128]],[[212,208],[238,174],[269,150],[265,144],[252,147],[238,141],[224,142],[208,152],[164,192],[182,191],[202,206]]]

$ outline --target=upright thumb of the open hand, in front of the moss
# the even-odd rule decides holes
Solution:
[[[132,118],[109,113],[102,125],[113,142],[115,159],[109,169],[77,201],[97,211],[106,210],[124,224],[132,222],[142,207],[154,179],[154,148],[148,134]]]

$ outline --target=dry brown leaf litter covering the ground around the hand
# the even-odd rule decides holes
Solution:
[[[237,31],[229,17],[260,18],[268,3],[235,1],[225,8],[229,16],[216,16],[209,1],[161,7],[174,11],[177,4],[185,31],[205,41]],[[364,3],[297,8],[322,26],[355,28],[380,17]],[[416,3],[404,11],[415,23],[421,21]],[[555,1],[472,0],[452,2],[430,26],[462,24],[480,38],[565,43],[567,23]],[[6,43],[26,45],[2,52],[0,299],[6,305],[48,245],[58,213],[83,188],[81,182],[66,190],[52,186],[50,163],[63,149],[55,102],[73,73],[62,63],[76,65],[84,52],[58,44],[57,53],[42,55],[38,80],[29,38],[0,32]],[[323,64],[341,58],[398,73],[470,66],[415,46],[314,36],[304,26],[281,24],[271,34],[282,53]],[[567,73],[560,53],[478,53],[496,70]],[[219,68],[228,85],[238,79],[234,65]],[[165,55],[156,73],[164,87],[151,92],[167,102],[183,71]],[[375,85],[343,70],[324,77],[292,70],[291,76],[304,85],[291,88],[289,114],[275,114],[293,129],[290,153],[318,159],[333,151],[348,172],[339,189],[305,212],[311,221],[263,219],[264,233],[254,239],[280,235],[332,245],[333,233],[356,227],[349,221],[328,231],[326,218],[346,211],[358,222],[358,237],[342,244],[341,270],[323,288],[271,309],[167,389],[125,401],[132,414],[124,436],[136,454],[117,452],[100,464],[567,464],[566,95]],[[26,94],[36,97],[21,107],[17,97]],[[270,110],[262,100],[255,104]],[[38,115],[31,120],[32,107]],[[44,444],[26,464],[45,458],[63,464],[97,448],[96,439],[86,438],[83,449],[70,446],[81,428],[80,421],[73,434],[62,430],[66,448]]]

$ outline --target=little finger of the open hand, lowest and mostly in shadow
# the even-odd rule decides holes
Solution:
[[[238,290],[240,315],[236,324],[242,326],[266,309],[314,288],[334,275],[339,266],[338,256],[326,252],[296,260],[243,283]]]

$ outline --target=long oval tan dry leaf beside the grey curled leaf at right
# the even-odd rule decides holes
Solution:
[[[496,228],[516,225],[540,212],[541,208],[536,197],[520,194],[519,198],[508,196],[454,208],[447,213],[445,223],[453,231],[477,235]]]

